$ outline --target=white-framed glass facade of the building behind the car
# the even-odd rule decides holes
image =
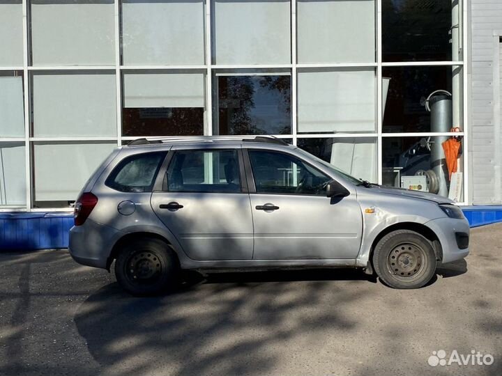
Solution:
[[[463,19],[457,0],[0,0],[0,210],[70,210],[114,147],[201,134],[463,202]]]

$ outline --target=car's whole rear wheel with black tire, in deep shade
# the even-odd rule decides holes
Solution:
[[[119,285],[132,295],[159,295],[176,286],[178,262],[162,240],[143,238],[123,246],[115,263]]]

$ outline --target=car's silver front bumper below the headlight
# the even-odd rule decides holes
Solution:
[[[469,254],[469,222],[466,219],[433,219],[425,226],[436,233],[441,243],[443,264],[461,260]]]

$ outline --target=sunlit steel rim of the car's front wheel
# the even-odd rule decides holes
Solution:
[[[388,254],[387,266],[396,279],[409,281],[423,274],[427,267],[427,256],[417,244],[401,243],[394,246]]]

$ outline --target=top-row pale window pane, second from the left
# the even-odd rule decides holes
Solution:
[[[113,0],[32,0],[33,65],[115,65]]]

